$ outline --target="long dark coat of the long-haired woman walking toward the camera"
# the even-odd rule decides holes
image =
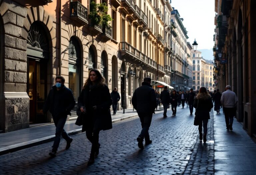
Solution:
[[[112,105],[111,95],[106,85],[94,88],[85,88],[78,97],[79,108],[85,107],[86,116],[83,120],[82,132],[86,128],[94,130],[107,130],[112,128],[110,106]],[[93,106],[97,106],[93,110]]]

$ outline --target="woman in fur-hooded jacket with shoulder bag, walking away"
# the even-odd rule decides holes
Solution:
[[[206,91],[205,87],[201,87],[194,101],[194,108],[196,108],[195,115],[199,120],[199,140],[203,139],[204,142],[207,141],[207,124],[212,107],[211,95]],[[204,134],[202,133],[202,126],[204,127]]]

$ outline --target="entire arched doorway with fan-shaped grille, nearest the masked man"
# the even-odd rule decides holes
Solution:
[[[30,98],[30,123],[46,122],[46,115],[41,112],[47,96],[47,62],[49,60],[49,41],[44,28],[43,23],[34,22],[30,26],[27,37],[27,93]]]

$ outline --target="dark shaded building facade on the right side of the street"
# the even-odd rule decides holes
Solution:
[[[236,118],[247,133],[256,138],[256,1],[215,0],[216,88],[230,85],[237,94]]]

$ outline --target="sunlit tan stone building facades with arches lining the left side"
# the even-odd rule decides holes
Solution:
[[[146,76],[173,85],[177,70],[184,88],[187,35],[169,1],[96,0],[113,19],[105,26],[90,19],[90,2],[0,1],[0,132],[52,122],[41,109],[58,75],[77,100],[88,72],[100,70],[118,88],[119,110],[132,107]]]

